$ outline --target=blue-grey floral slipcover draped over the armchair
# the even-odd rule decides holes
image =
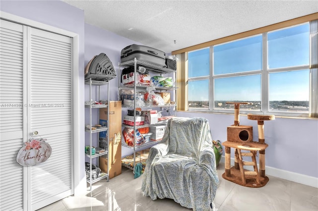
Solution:
[[[162,141],[149,152],[142,181],[144,196],[169,198],[194,211],[208,211],[218,185],[208,120],[169,119]]]

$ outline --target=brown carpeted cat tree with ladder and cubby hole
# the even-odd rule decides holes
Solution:
[[[268,177],[265,175],[265,149],[268,144],[264,138],[264,121],[275,119],[274,115],[247,114],[247,119],[257,120],[258,142],[253,141],[253,127],[239,125],[239,105],[250,105],[246,102],[227,102],[234,104],[234,124],[228,126],[228,140],[223,142],[225,146],[225,172],[222,177],[242,186],[258,188],[266,185]],[[231,167],[231,148],[235,150],[235,162]],[[259,170],[256,155],[259,154]],[[251,161],[244,161],[243,157]],[[244,166],[253,166],[253,170],[247,170]]]

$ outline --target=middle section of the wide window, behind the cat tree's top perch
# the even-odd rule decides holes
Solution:
[[[213,47],[214,109],[234,108],[228,101],[252,102],[260,110],[262,35]]]

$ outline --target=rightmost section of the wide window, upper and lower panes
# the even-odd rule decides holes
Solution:
[[[269,111],[309,113],[309,23],[267,33]]]

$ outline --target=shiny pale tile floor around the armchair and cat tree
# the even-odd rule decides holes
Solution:
[[[214,200],[216,211],[318,211],[318,189],[277,177],[261,188],[247,188],[222,178]],[[68,197],[39,211],[189,211],[170,199],[152,201],[141,192],[142,176],[128,168],[109,180],[94,183],[86,196]]]

